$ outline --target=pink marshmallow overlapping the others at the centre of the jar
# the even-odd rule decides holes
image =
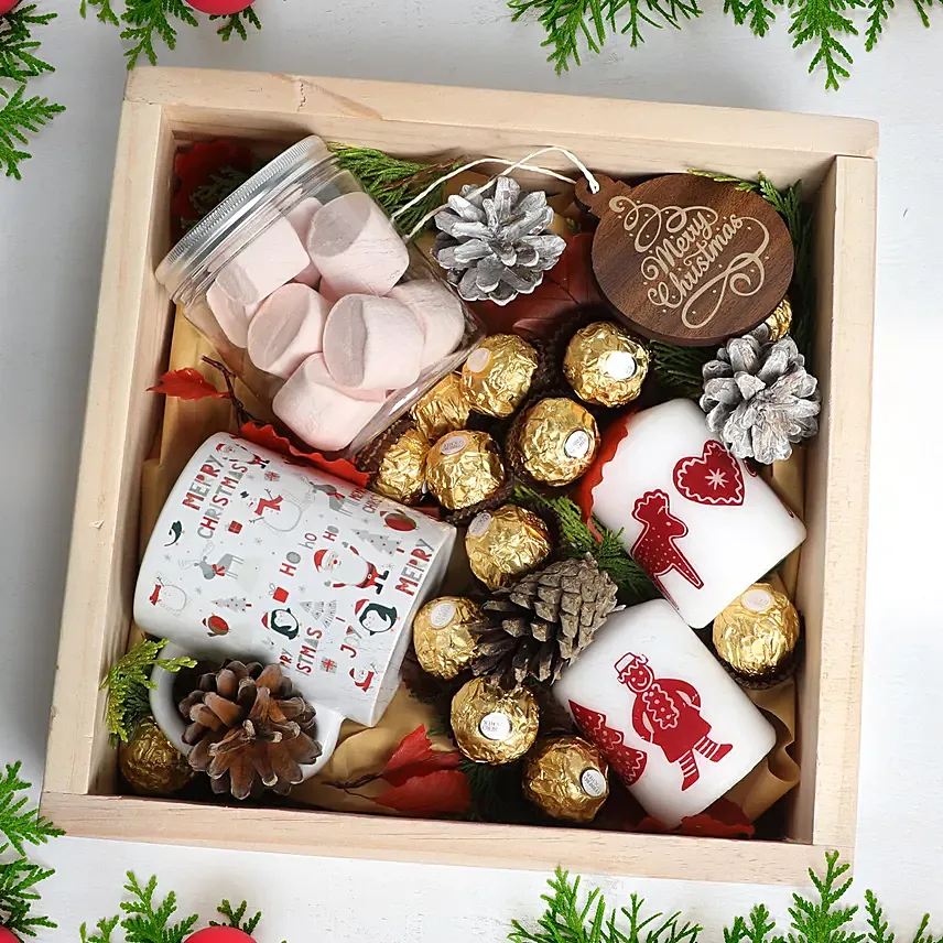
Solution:
[[[376,295],[340,299],[324,326],[324,359],[344,387],[390,390],[420,375],[422,327],[401,302]]]

